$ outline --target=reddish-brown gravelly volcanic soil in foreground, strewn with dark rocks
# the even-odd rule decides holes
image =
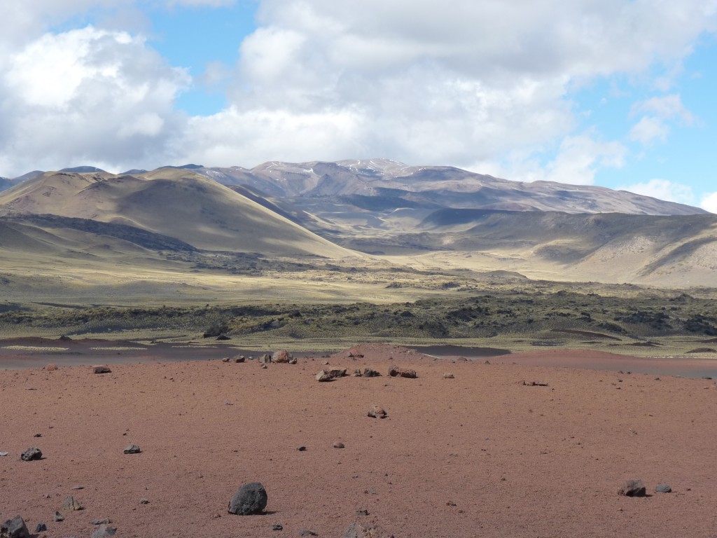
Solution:
[[[89,537],[105,517],[120,538],[341,537],[357,520],[397,538],[715,536],[713,381],[352,351],[267,369],[0,371],[0,520],[44,522],[52,538]],[[419,377],[388,377],[390,365]],[[384,375],[315,381],[333,367]],[[368,417],[372,405],[388,417]],[[34,446],[44,458],[20,461]],[[618,496],[631,478],[650,496]],[[228,514],[252,481],[265,514]],[[82,511],[62,510],[70,495]]]

